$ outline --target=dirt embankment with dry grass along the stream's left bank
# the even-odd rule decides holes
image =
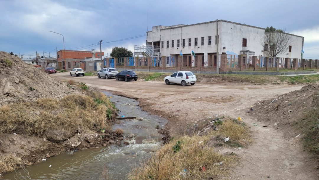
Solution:
[[[117,110],[91,89],[58,81],[1,51],[0,173],[64,151],[119,145],[123,132],[111,129]]]

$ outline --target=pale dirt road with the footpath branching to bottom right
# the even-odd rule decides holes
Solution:
[[[169,120],[170,134],[183,135],[194,121],[214,114],[242,117],[251,126],[254,143],[241,151],[241,163],[233,169],[232,179],[316,179],[304,163],[307,157],[294,140],[287,141],[273,127],[262,128],[257,120],[246,119],[248,108],[263,99],[299,90],[302,86],[200,84],[194,86],[164,82],[116,81],[96,76],[70,77],[68,73],[52,74],[62,80],[73,79],[114,94],[138,98],[140,106]],[[252,125],[256,122],[257,125]],[[268,177],[269,176],[269,177]]]

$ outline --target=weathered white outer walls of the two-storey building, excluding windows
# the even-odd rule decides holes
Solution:
[[[220,20],[218,21],[219,31],[219,54],[234,54],[240,55],[241,51],[253,51],[255,56],[263,55],[263,45],[261,41],[264,36],[264,28],[243,25],[239,23]],[[160,46],[161,56],[171,56],[175,54],[190,54],[193,50],[195,54],[216,53],[215,44],[216,21],[199,23],[194,25],[183,25],[178,27],[155,26],[152,31],[147,32],[147,44],[158,42]],[[211,45],[208,45],[208,36],[211,36]],[[198,39],[198,44],[195,46],[195,38]],[[201,37],[204,37],[204,45],[201,45]],[[188,44],[188,39],[191,38],[191,46]],[[247,47],[242,47],[243,38],[247,39]],[[177,47],[177,40],[180,40],[180,47]],[[185,47],[182,47],[182,39],[185,39]],[[172,48],[172,40],[174,40],[174,48]],[[161,48],[161,42],[164,42],[164,47]],[[169,41],[169,48],[167,48]],[[278,57],[286,58],[301,58],[302,37],[291,35],[292,52],[284,53]],[[223,47],[226,47],[223,49]]]

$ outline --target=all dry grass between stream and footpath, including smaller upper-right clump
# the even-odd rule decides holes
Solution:
[[[231,143],[247,145],[251,137],[243,123],[228,117],[216,126],[218,130],[211,130],[203,136],[178,137],[162,146],[142,167],[131,172],[129,179],[210,179],[225,174],[237,157],[218,153],[211,142],[215,142],[215,137],[229,137]],[[221,161],[222,165],[214,166]],[[183,169],[187,170],[185,177],[180,176]]]

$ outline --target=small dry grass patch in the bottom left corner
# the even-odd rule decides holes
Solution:
[[[30,163],[22,161],[13,154],[0,155],[0,172],[6,173],[11,172],[16,168],[20,168],[24,165],[30,165]],[[1,177],[1,176],[0,176]]]

